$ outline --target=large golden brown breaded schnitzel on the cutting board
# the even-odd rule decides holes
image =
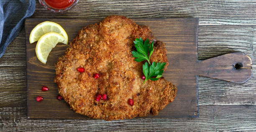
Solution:
[[[174,100],[177,88],[163,77],[142,85],[144,62],[134,61],[131,54],[138,37],[155,40],[149,27],[123,16],[108,16],[79,31],[65,55],[59,57],[54,79],[59,94],[75,112],[95,119],[122,120],[150,112],[157,115]],[[155,42],[150,61],[166,62],[167,67],[163,42]],[[78,72],[78,67],[85,72]],[[100,77],[93,78],[94,73]],[[108,99],[97,102],[97,94],[107,94]],[[133,106],[128,105],[129,98]]]

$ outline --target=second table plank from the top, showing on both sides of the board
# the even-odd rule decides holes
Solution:
[[[78,31],[77,31],[78,32]],[[256,64],[256,25],[200,25],[198,59],[241,51]],[[26,66],[25,30],[7,47],[0,66]]]

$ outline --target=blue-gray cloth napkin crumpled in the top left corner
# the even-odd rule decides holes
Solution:
[[[24,19],[33,15],[36,0],[0,0],[0,57],[23,27]]]

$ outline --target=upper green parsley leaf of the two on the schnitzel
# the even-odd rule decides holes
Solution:
[[[137,50],[137,51],[132,51],[133,57],[136,58],[135,61],[141,62],[143,60],[147,60],[148,63],[150,64],[149,58],[154,51],[154,41],[148,44],[149,40],[147,39],[143,44],[143,40],[140,37],[140,38],[136,38],[133,42]]]

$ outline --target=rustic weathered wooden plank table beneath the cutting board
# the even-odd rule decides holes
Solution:
[[[0,58],[0,131],[256,131],[256,1],[80,0],[66,13],[52,13],[36,0],[33,18],[198,17],[199,60],[241,51],[253,76],[237,85],[199,77],[199,118],[131,120],[28,120],[24,28]]]

